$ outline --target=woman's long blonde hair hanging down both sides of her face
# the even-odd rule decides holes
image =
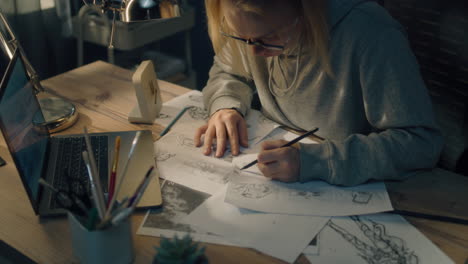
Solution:
[[[213,44],[217,57],[224,63],[229,62],[232,70],[244,77],[250,74],[244,67],[241,60],[241,46],[220,34],[221,23],[223,19],[222,4],[223,0],[205,0],[206,15],[208,18],[208,33]],[[271,0],[230,0],[240,10],[253,12],[261,15],[267,4]],[[320,65],[321,69],[329,75],[333,75],[328,54],[328,25],[325,16],[325,0],[282,0],[293,5],[299,12],[304,28],[304,42],[310,47],[313,54],[310,68]],[[226,44],[230,44],[231,54],[223,53]],[[307,47],[306,47],[307,48]],[[226,56],[229,56],[227,59]]]

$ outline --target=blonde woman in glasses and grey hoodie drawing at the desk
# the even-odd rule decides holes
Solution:
[[[434,166],[442,138],[403,29],[372,1],[205,0],[216,56],[203,89],[203,153],[247,146],[256,89],[262,112],[296,130],[319,127],[321,144],[267,141],[266,176],[356,185],[402,179]],[[202,136],[204,140],[202,142]]]

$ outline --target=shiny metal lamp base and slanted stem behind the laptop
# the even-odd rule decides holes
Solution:
[[[13,33],[13,30],[8,24],[8,21],[3,16],[1,10],[0,48],[2,52],[5,53],[4,55],[6,55],[6,57],[8,57],[9,59],[13,58],[13,51],[17,49],[20,52],[20,56],[24,61],[26,71],[28,72],[29,78],[31,79],[31,83],[34,87],[36,94],[44,92],[44,88],[41,86],[37,72],[34,70],[34,67],[27,59],[26,53],[21,47],[18,39]],[[66,129],[73,125],[78,119],[78,113],[76,112],[75,106],[62,98],[55,96],[39,98],[39,104],[41,106],[41,110],[44,115],[45,121],[36,123],[36,125],[46,127],[50,133]]]

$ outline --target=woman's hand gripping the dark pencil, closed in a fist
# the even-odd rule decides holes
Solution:
[[[258,168],[265,177],[282,182],[299,180],[301,159],[299,144],[281,147],[286,140],[271,140],[262,143],[262,151],[258,154]]]

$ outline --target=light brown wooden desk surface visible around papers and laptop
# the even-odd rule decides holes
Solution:
[[[131,76],[132,72],[128,70],[100,61],[43,81],[47,91],[77,105],[79,120],[63,133],[81,133],[85,125],[90,132],[144,128],[151,129],[156,139],[163,127],[134,125],[127,121],[127,114],[136,102]],[[164,81],[159,85],[164,101],[189,91]],[[40,222],[30,206],[3,138],[0,139],[0,155],[8,162],[0,168],[0,239],[39,263],[74,261],[66,219]],[[468,178],[435,171],[388,186],[397,208],[468,218]],[[132,217],[134,234],[143,216],[141,213]],[[456,263],[464,263],[468,258],[468,226],[407,219]],[[134,242],[135,263],[151,263],[159,238],[134,235]],[[283,263],[251,249],[205,245],[211,263]],[[308,263],[304,256],[296,262]]]

